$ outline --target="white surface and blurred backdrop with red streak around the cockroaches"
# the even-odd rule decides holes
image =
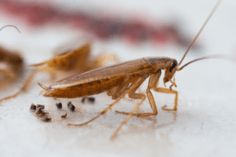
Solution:
[[[179,60],[216,0],[1,0],[0,46],[18,51],[26,65],[49,59],[64,46],[92,42],[92,56],[115,54],[121,62],[147,56]],[[225,0],[201,34],[186,61],[211,54],[235,56],[236,2]],[[1,57],[1,56],[0,56]],[[112,63],[110,63],[112,64]],[[176,74],[180,93],[176,114],[161,111],[173,104],[173,96],[154,93],[159,115],[153,120],[132,118],[114,141],[109,137],[125,116],[113,111],[83,128],[82,122],[112,102],[96,95],[94,104],[71,100],[81,112],[60,119],[59,100],[44,98],[34,79],[30,90],[0,106],[1,156],[235,156],[236,63],[206,60]],[[27,74],[29,68],[25,68]],[[25,74],[25,75],[26,75]],[[0,91],[4,97],[16,91],[20,77]],[[147,83],[140,91],[145,91]],[[162,84],[161,84],[162,85]],[[69,100],[60,100],[66,103]],[[116,109],[131,110],[136,101],[125,98]],[[29,111],[31,103],[46,105],[54,115],[51,123]],[[149,111],[145,101],[142,111]]]

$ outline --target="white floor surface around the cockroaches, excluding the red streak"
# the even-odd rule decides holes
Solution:
[[[124,8],[125,12],[143,11],[153,17],[176,14],[182,16],[182,21],[185,21],[183,24],[189,32],[198,30],[215,3],[214,0],[86,2],[81,1],[78,5],[99,8],[109,6],[118,11],[119,8]],[[193,51],[188,60],[206,54],[235,54],[235,10],[236,3],[233,0],[224,1],[201,35],[200,41],[204,44],[204,49],[201,52]],[[0,32],[0,44],[24,52],[28,63],[50,57],[58,45],[75,37],[73,31],[63,28],[28,32],[24,25],[1,15],[0,25],[7,23],[19,25],[23,33],[17,34],[14,30],[6,29]],[[173,46],[134,47],[121,42],[95,42],[94,45],[96,53],[101,50],[116,52],[122,60],[143,56],[170,56],[179,59],[184,50]],[[39,76],[36,81],[41,79]],[[35,81],[29,93],[0,106],[0,156],[235,156],[236,64],[220,60],[203,61],[179,72],[176,79],[180,92],[178,112],[173,114],[160,111],[156,123],[133,118],[115,141],[110,141],[109,137],[124,116],[110,112],[88,127],[69,128],[66,126],[67,120],[60,120],[54,106],[55,101],[43,98]],[[19,84],[1,92],[0,96],[11,93],[18,86]],[[145,87],[144,85],[142,90]],[[172,96],[155,94],[155,99],[159,109],[163,104],[173,103]],[[82,105],[80,99],[72,101],[83,110],[82,113],[69,116],[68,121],[74,122],[88,119],[111,102],[104,94],[96,96],[95,105]],[[33,102],[45,104],[56,120],[52,123],[37,120],[29,112]],[[67,100],[63,102],[66,103]],[[116,109],[128,110],[131,104],[132,101],[125,99]],[[142,109],[149,110],[148,102],[144,103]]]

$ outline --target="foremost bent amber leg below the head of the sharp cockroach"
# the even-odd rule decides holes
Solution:
[[[177,109],[178,109],[178,97],[179,97],[178,91],[171,90],[171,89],[168,89],[168,88],[161,88],[161,87],[153,88],[153,90],[155,90],[156,92],[165,93],[165,94],[174,94],[175,95],[174,107],[173,108],[167,108],[167,106],[164,105],[162,107],[162,109],[164,111],[177,111]]]

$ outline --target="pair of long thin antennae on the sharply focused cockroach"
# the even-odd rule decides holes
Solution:
[[[220,58],[219,55],[217,56],[206,56],[206,57],[201,57],[201,58],[197,58],[194,59],[186,64],[184,64],[183,66],[180,67],[180,65],[183,63],[184,59],[186,58],[187,54],[189,53],[189,51],[191,50],[191,48],[193,47],[193,45],[196,43],[197,39],[199,38],[200,34],[202,33],[202,31],[204,30],[204,28],[206,27],[206,25],[208,24],[209,20],[212,18],[213,14],[216,12],[216,9],[219,7],[219,5],[221,4],[223,0],[218,0],[217,3],[215,4],[214,8],[211,10],[210,14],[208,15],[207,19],[205,20],[205,22],[203,23],[203,25],[201,26],[200,30],[198,31],[198,33],[194,36],[193,40],[191,41],[190,45],[188,46],[188,48],[186,49],[183,57],[181,58],[179,64],[178,64],[178,71],[182,70],[183,68],[185,68],[186,66],[188,66],[191,63],[200,61],[200,60],[204,60],[204,59],[210,59],[210,58]]]

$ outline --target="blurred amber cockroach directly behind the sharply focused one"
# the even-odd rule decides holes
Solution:
[[[63,53],[54,56],[53,58],[47,61],[31,65],[31,67],[33,67],[33,70],[23,83],[23,86],[14,94],[0,99],[0,102],[15,98],[21,92],[27,91],[35,74],[38,71],[47,71],[49,72],[49,74],[51,74],[52,78],[55,78],[56,73],[59,72],[81,73],[94,68],[104,66],[105,62],[108,61],[112,62],[118,61],[115,55],[101,54],[95,58],[91,58],[90,53],[91,53],[91,44],[89,42],[86,42],[82,44],[82,46],[79,46],[75,49],[67,50]]]

